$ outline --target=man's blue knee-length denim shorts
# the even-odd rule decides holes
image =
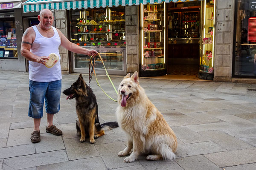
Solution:
[[[60,110],[61,79],[52,82],[29,80],[29,117],[43,117],[45,100],[46,113],[55,114]]]

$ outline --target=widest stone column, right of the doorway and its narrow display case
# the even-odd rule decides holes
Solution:
[[[215,0],[214,81],[232,81],[235,0]]]

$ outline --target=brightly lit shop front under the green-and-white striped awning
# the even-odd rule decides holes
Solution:
[[[210,33],[214,31],[214,6],[211,2],[166,0],[150,4],[149,1],[137,1],[135,5],[140,6],[135,6],[125,0],[96,3],[28,0],[23,6],[24,12],[43,8],[55,11],[67,9],[66,21],[63,22],[66,23],[67,37],[84,48],[96,49],[105,61],[109,74],[125,75],[140,71],[140,76],[157,76],[172,74],[173,68],[184,70],[194,64],[195,74],[202,68],[202,74],[213,75],[213,34]],[[204,17],[206,6],[211,7],[211,12],[207,11]],[[188,14],[188,18],[183,13]],[[192,17],[191,20],[189,17]],[[211,20],[204,21],[206,17]],[[181,22],[180,25],[175,26],[178,22]],[[177,34],[174,34],[174,27],[177,27]],[[190,49],[195,52],[189,53]],[[87,73],[89,60],[87,56],[70,53],[69,73]],[[95,67],[99,74],[105,73],[98,58]]]

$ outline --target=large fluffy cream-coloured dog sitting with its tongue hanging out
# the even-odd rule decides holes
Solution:
[[[148,99],[138,80],[137,71],[131,77],[127,74],[118,88],[116,117],[127,137],[127,147],[118,156],[131,154],[124,162],[135,161],[140,153],[150,153],[147,160],[175,159],[175,133]]]

